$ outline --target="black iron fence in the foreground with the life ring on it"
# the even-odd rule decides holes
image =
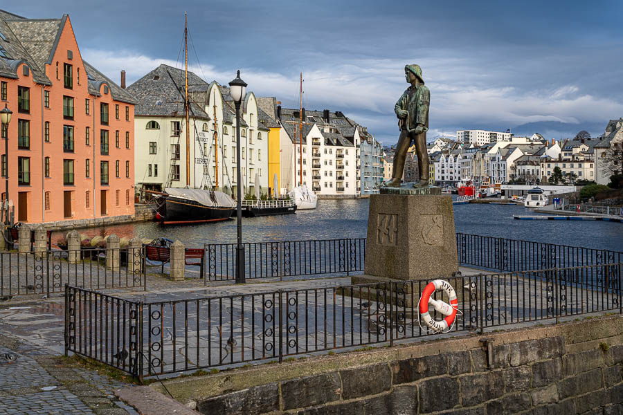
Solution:
[[[457,293],[459,311],[451,331],[622,313],[622,266],[451,277],[447,280]],[[149,302],[67,286],[66,352],[152,376],[391,345],[433,335],[417,311],[426,284],[406,281]]]

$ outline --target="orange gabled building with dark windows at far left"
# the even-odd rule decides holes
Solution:
[[[122,80],[122,84],[123,84]],[[68,15],[0,10],[2,198],[15,220],[40,223],[134,214],[134,97],[82,60]]]

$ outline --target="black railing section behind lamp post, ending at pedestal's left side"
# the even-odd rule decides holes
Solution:
[[[235,279],[235,243],[206,244],[206,282]],[[246,278],[363,271],[365,238],[244,243]]]

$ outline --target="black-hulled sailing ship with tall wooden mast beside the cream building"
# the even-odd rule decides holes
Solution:
[[[236,208],[236,202],[231,198],[231,196],[224,192],[213,190],[210,176],[206,169],[204,169],[204,181],[207,182],[207,185],[205,186],[206,188],[197,189],[190,187],[190,112],[192,111],[192,107],[190,106],[190,100],[188,98],[188,20],[186,18],[186,14],[184,19],[184,60],[186,66],[184,70],[186,187],[165,187],[164,192],[145,190],[145,192],[149,192],[156,196],[154,199],[154,202],[156,203],[156,221],[159,221],[163,225],[224,221],[232,216]],[[216,124],[214,126],[214,130],[216,142]],[[193,138],[196,139],[196,136],[197,131],[195,131]],[[193,140],[193,143],[194,142],[195,140]],[[204,158],[205,155],[203,154],[201,145],[199,145],[199,151],[201,151],[201,158]],[[216,169],[217,168],[218,167],[216,167]],[[171,166],[171,172],[173,172],[173,166]],[[216,180],[218,181],[217,175]],[[218,184],[216,188],[218,188]]]

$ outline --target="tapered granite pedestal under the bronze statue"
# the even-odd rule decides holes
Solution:
[[[439,187],[404,185],[370,196],[366,275],[408,280],[457,271],[451,196]]]

